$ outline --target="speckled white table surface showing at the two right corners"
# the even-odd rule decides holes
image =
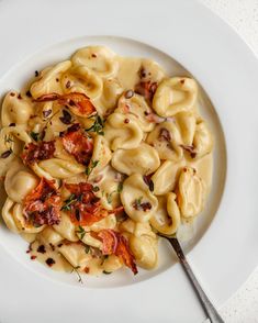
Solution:
[[[258,57],[258,0],[200,0],[226,21]],[[258,265],[258,259],[257,259]],[[221,311],[226,323],[258,322],[258,267]]]

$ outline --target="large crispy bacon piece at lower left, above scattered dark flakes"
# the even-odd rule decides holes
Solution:
[[[54,181],[44,177],[38,186],[25,197],[23,214],[34,226],[54,225],[60,222],[60,194]]]

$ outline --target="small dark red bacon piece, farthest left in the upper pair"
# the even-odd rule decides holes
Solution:
[[[55,141],[41,142],[38,144],[30,143],[24,147],[21,155],[25,165],[33,165],[40,160],[49,159],[55,153]]]

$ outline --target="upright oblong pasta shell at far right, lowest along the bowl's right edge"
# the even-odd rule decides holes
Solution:
[[[205,187],[194,168],[184,167],[178,180],[178,204],[182,216],[192,218],[203,209]]]

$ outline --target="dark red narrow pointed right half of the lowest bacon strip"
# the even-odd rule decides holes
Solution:
[[[116,233],[117,234],[117,233]],[[134,255],[132,254],[127,240],[121,235],[117,234],[119,243],[115,250],[115,255],[121,258],[121,260],[124,263],[125,266],[131,268],[131,270],[136,275],[138,272]]]

